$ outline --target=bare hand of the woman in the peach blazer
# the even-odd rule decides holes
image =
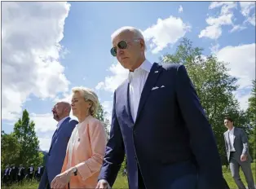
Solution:
[[[62,174],[55,176],[51,182],[51,188],[64,188],[68,184],[70,177],[73,174],[72,170],[73,168],[68,169]]]

